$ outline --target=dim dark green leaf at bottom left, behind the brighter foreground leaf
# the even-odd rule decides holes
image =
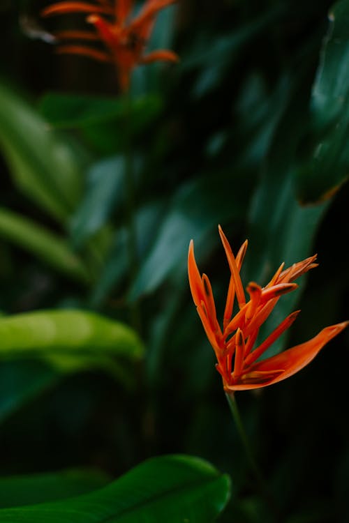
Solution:
[[[104,487],[107,476],[88,469],[72,469],[30,476],[0,478],[0,507],[19,507],[86,494]]]

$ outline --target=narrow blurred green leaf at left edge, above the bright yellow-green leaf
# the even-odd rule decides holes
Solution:
[[[0,236],[70,278],[87,282],[89,273],[66,241],[24,216],[0,208]]]

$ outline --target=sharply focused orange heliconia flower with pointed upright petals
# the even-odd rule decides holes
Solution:
[[[343,328],[346,328],[349,322],[343,321],[341,324],[326,327],[308,342],[259,361],[260,356],[281,336],[286,328],[292,325],[299,310],[292,312],[281,321],[281,324],[262,343],[258,344],[258,347],[254,348],[260,326],[269,317],[280,296],[297,288],[297,284],[293,283],[294,280],[317,266],[314,263],[316,255],[299,261],[286,269],[283,268],[284,264],[281,264],[266,287],[260,287],[255,282],[249,283],[246,287],[249,299],[246,301],[239,273],[244,261],[247,241],[243,243],[235,257],[221,227],[218,227],[218,229],[231,273],[223,317],[223,329],[217,321],[209,279],[205,274],[201,276],[198,271],[194,257],[193,240],[188,253],[191,294],[207,338],[216,353],[218,361],[216,368],[223,378],[223,387],[227,392],[272,385],[292,376],[308,365],[320,349],[343,331]],[[233,315],[235,297],[239,310],[237,314]]]

